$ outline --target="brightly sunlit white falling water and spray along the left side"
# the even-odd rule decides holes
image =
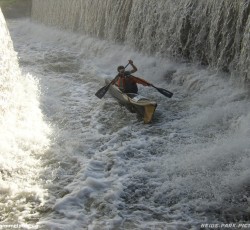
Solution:
[[[38,81],[21,73],[1,11],[0,76],[0,222],[33,222],[46,196],[39,157],[49,145],[49,127],[39,108]]]

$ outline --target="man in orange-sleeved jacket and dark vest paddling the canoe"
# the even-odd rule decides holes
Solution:
[[[133,67],[131,71],[125,71],[124,66],[118,66],[117,71],[119,73],[112,81],[112,84],[116,84],[124,93],[138,93],[137,83],[144,86],[150,86],[150,83],[145,80],[131,75],[137,71],[137,68],[132,60],[129,60],[129,64]]]

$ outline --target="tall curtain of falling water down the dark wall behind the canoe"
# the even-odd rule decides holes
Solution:
[[[46,25],[185,58],[250,80],[250,1],[33,0]]]

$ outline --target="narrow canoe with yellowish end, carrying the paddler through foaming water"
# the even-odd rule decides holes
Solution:
[[[106,79],[105,83],[108,85],[110,80]],[[142,117],[145,124],[152,121],[157,107],[157,103],[155,101],[136,93],[123,93],[116,85],[111,85],[109,87],[109,93],[130,112],[137,113],[140,117]]]

